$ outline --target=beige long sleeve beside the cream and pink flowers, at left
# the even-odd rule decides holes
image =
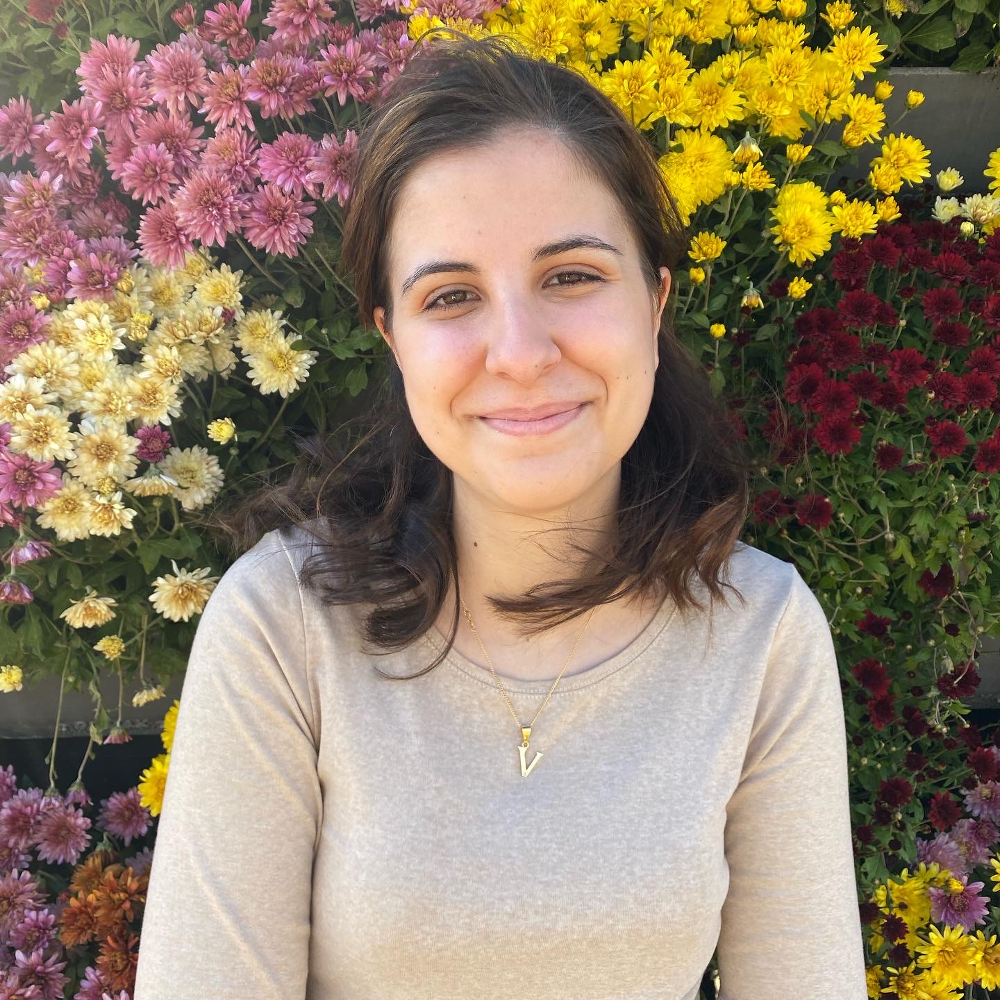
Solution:
[[[271,532],[205,606],[181,692],[134,1000],[302,1000],[322,795],[294,568]]]

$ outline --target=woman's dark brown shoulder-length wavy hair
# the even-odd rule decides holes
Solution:
[[[507,36],[453,35],[428,44],[418,40],[362,129],[341,249],[362,321],[372,326],[373,310],[382,305],[391,329],[386,248],[408,175],[439,153],[480,146],[500,130],[524,126],[555,134],[614,193],[655,302],[658,268],[683,266],[689,235],[647,140],[579,73],[533,58]],[[614,538],[600,551],[571,543],[585,557],[579,564],[585,569],[571,579],[487,598],[500,615],[521,623],[522,634],[630,593],[666,595],[682,614],[692,605],[702,610],[693,594],[695,576],[713,608],[716,599],[725,601],[724,586],[744,600],[732,584],[720,582],[720,570],[747,516],[751,460],[705,372],[674,335],[676,290],[673,282],[649,412],[622,459]],[[303,454],[286,482],[214,517],[237,551],[272,528],[305,528],[318,544],[300,583],[324,603],[372,604],[362,631],[379,654],[406,647],[432,627],[449,581],[458,593],[452,474],[417,433],[395,361],[387,368],[368,412],[341,425],[349,431],[360,421],[360,435],[298,442]],[[379,673],[409,680],[438,666],[454,641],[458,616],[456,601],[445,651],[429,666],[399,678]]]

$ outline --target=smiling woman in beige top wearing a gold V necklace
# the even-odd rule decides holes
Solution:
[[[342,248],[390,378],[227,521],[136,1000],[695,1000],[716,948],[726,1000],[864,1000],[833,643],[738,541],[686,244],[579,75],[460,39],[393,83]]]

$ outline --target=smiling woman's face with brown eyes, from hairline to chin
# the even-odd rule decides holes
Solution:
[[[547,132],[508,130],[414,170],[389,233],[393,329],[381,306],[374,318],[456,491],[541,515],[588,508],[609,477],[617,490],[652,399],[660,276],[657,301],[615,197]],[[549,403],[583,405],[547,433],[484,419]]]

